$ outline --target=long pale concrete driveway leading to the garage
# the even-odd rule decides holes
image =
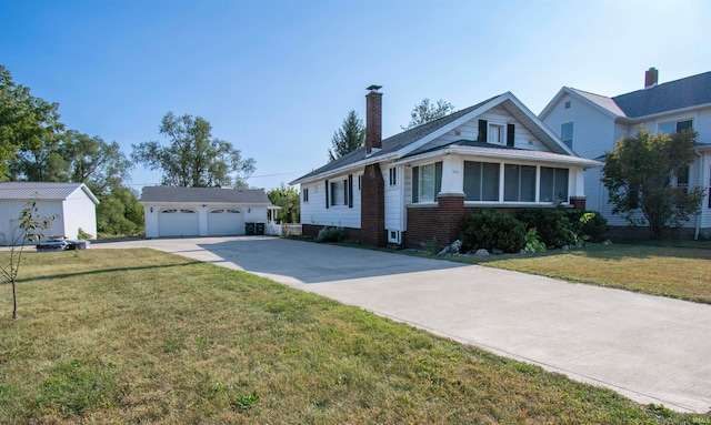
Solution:
[[[711,305],[274,237],[92,245],[108,247],[152,247],[248,271],[640,403],[711,411]]]

